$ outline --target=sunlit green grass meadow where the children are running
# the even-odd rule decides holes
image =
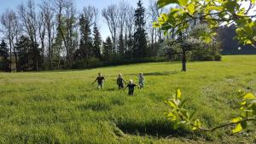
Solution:
[[[256,126],[240,134],[231,128],[213,133],[172,130],[163,112],[177,88],[186,107],[207,127],[238,116],[238,89],[256,93],[256,55],[224,56],[223,61],[111,66],[84,71],[0,73],[0,143],[256,143]],[[97,72],[104,89],[91,83]],[[116,77],[144,89],[119,90]]]

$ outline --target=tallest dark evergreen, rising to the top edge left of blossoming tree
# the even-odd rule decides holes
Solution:
[[[137,57],[147,56],[147,33],[145,30],[145,8],[141,0],[137,3],[135,10],[135,26],[133,55]]]

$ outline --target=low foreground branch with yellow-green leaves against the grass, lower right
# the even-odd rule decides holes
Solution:
[[[194,118],[195,112],[190,113],[184,108],[184,103],[188,101],[188,99],[181,100],[182,96],[180,89],[177,89],[176,95],[172,95],[172,98],[165,101],[167,106],[171,109],[169,112],[165,112],[165,114],[168,120],[174,123],[174,129],[177,129],[182,125],[188,125],[191,130],[214,131],[226,126],[236,125],[232,132],[238,133],[247,129],[247,123],[249,121],[256,121],[256,96],[252,93],[241,92],[241,90],[239,93],[239,98],[241,99],[240,117],[233,118],[229,124],[222,124],[212,129],[203,128],[201,120]]]

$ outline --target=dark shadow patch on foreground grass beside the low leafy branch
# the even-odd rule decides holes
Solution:
[[[167,121],[148,121],[148,122],[135,122],[135,121],[123,121],[118,122],[116,126],[119,130],[122,130],[125,134],[129,135],[149,135],[154,137],[179,137],[192,135],[193,133],[185,128],[179,128],[177,130],[172,129],[172,124]]]

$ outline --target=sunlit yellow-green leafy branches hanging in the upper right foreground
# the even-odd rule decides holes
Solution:
[[[211,28],[211,32],[201,33],[201,39],[209,43],[218,26],[236,24],[239,42],[255,46],[256,21],[253,18],[256,15],[249,15],[255,0],[158,0],[159,8],[169,4],[177,4],[177,8],[170,9],[168,14],[160,14],[154,22],[154,27],[160,27],[165,33],[173,29],[172,32],[178,35],[189,28],[189,22],[201,20]]]

